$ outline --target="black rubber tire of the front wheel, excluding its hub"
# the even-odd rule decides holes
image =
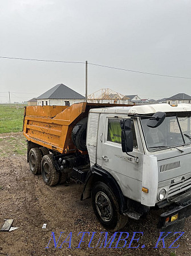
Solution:
[[[111,202],[113,216],[112,216],[112,219],[107,222],[101,218],[95,206],[95,196],[96,196],[96,193],[99,191],[104,192],[104,194],[108,196]],[[111,191],[111,189],[105,183],[96,182],[94,184],[94,187],[92,188],[92,192],[91,192],[91,199],[92,199],[92,207],[95,212],[96,218],[99,220],[99,222],[105,229],[113,232],[113,231],[122,229],[127,224],[128,216],[119,214],[119,204],[118,204],[119,200],[117,200],[115,195],[113,195],[113,192]]]

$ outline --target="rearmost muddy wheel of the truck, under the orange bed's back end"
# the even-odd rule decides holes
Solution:
[[[29,166],[32,174],[40,174],[40,163],[42,160],[42,153],[39,148],[31,148],[29,152]]]

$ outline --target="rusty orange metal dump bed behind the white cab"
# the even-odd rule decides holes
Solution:
[[[28,106],[25,109],[23,134],[27,140],[43,147],[60,153],[72,153],[76,151],[71,139],[71,132],[75,124],[88,116],[91,108],[113,106],[122,105],[77,103],[70,107]]]

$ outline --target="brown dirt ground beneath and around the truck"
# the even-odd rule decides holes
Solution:
[[[54,187],[46,186],[40,175],[34,176],[30,171],[22,133],[0,135],[0,227],[4,219],[14,219],[12,226],[19,227],[11,232],[0,231],[0,256],[191,254],[190,219],[186,219],[184,235],[172,246],[179,245],[177,249],[168,248],[175,238],[165,241],[166,249],[162,248],[162,242],[159,242],[159,248],[153,249],[160,235],[160,231],[156,228],[159,215],[157,210],[151,210],[145,220],[128,220],[124,229],[120,230],[124,232],[122,238],[129,233],[124,248],[103,248],[104,243],[101,246],[101,241],[106,230],[97,222],[91,200],[80,201],[82,191],[83,184],[74,181]],[[47,223],[46,229],[42,229],[44,223]],[[64,233],[60,235],[60,232]],[[80,248],[76,248],[82,238],[80,232],[90,232],[90,234],[86,233],[84,242],[81,243]],[[89,246],[95,248],[90,248],[88,243],[93,232],[95,232],[94,238]],[[135,239],[140,236],[139,242],[132,242],[131,247],[139,245],[137,249],[128,248],[133,232],[143,232],[143,236],[141,234],[135,236]],[[51,237],[52,233],[55,235],[55,242],[58,242],[57,246]],[[112,247],[116,246],[119,234],[117,233]],[[108,238],[112,235],[113,233],[108,233]],[[69,246],[71,248],[68,248]],[[116,247],[123,246],[124,241],[121,241]]]

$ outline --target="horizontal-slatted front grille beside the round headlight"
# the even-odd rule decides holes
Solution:
[[[180,180],[179,182],[174,182],[169,187],[168,197],[172,195],[176,195],[184,190],[188,190],[191,187],[191,177]]]

